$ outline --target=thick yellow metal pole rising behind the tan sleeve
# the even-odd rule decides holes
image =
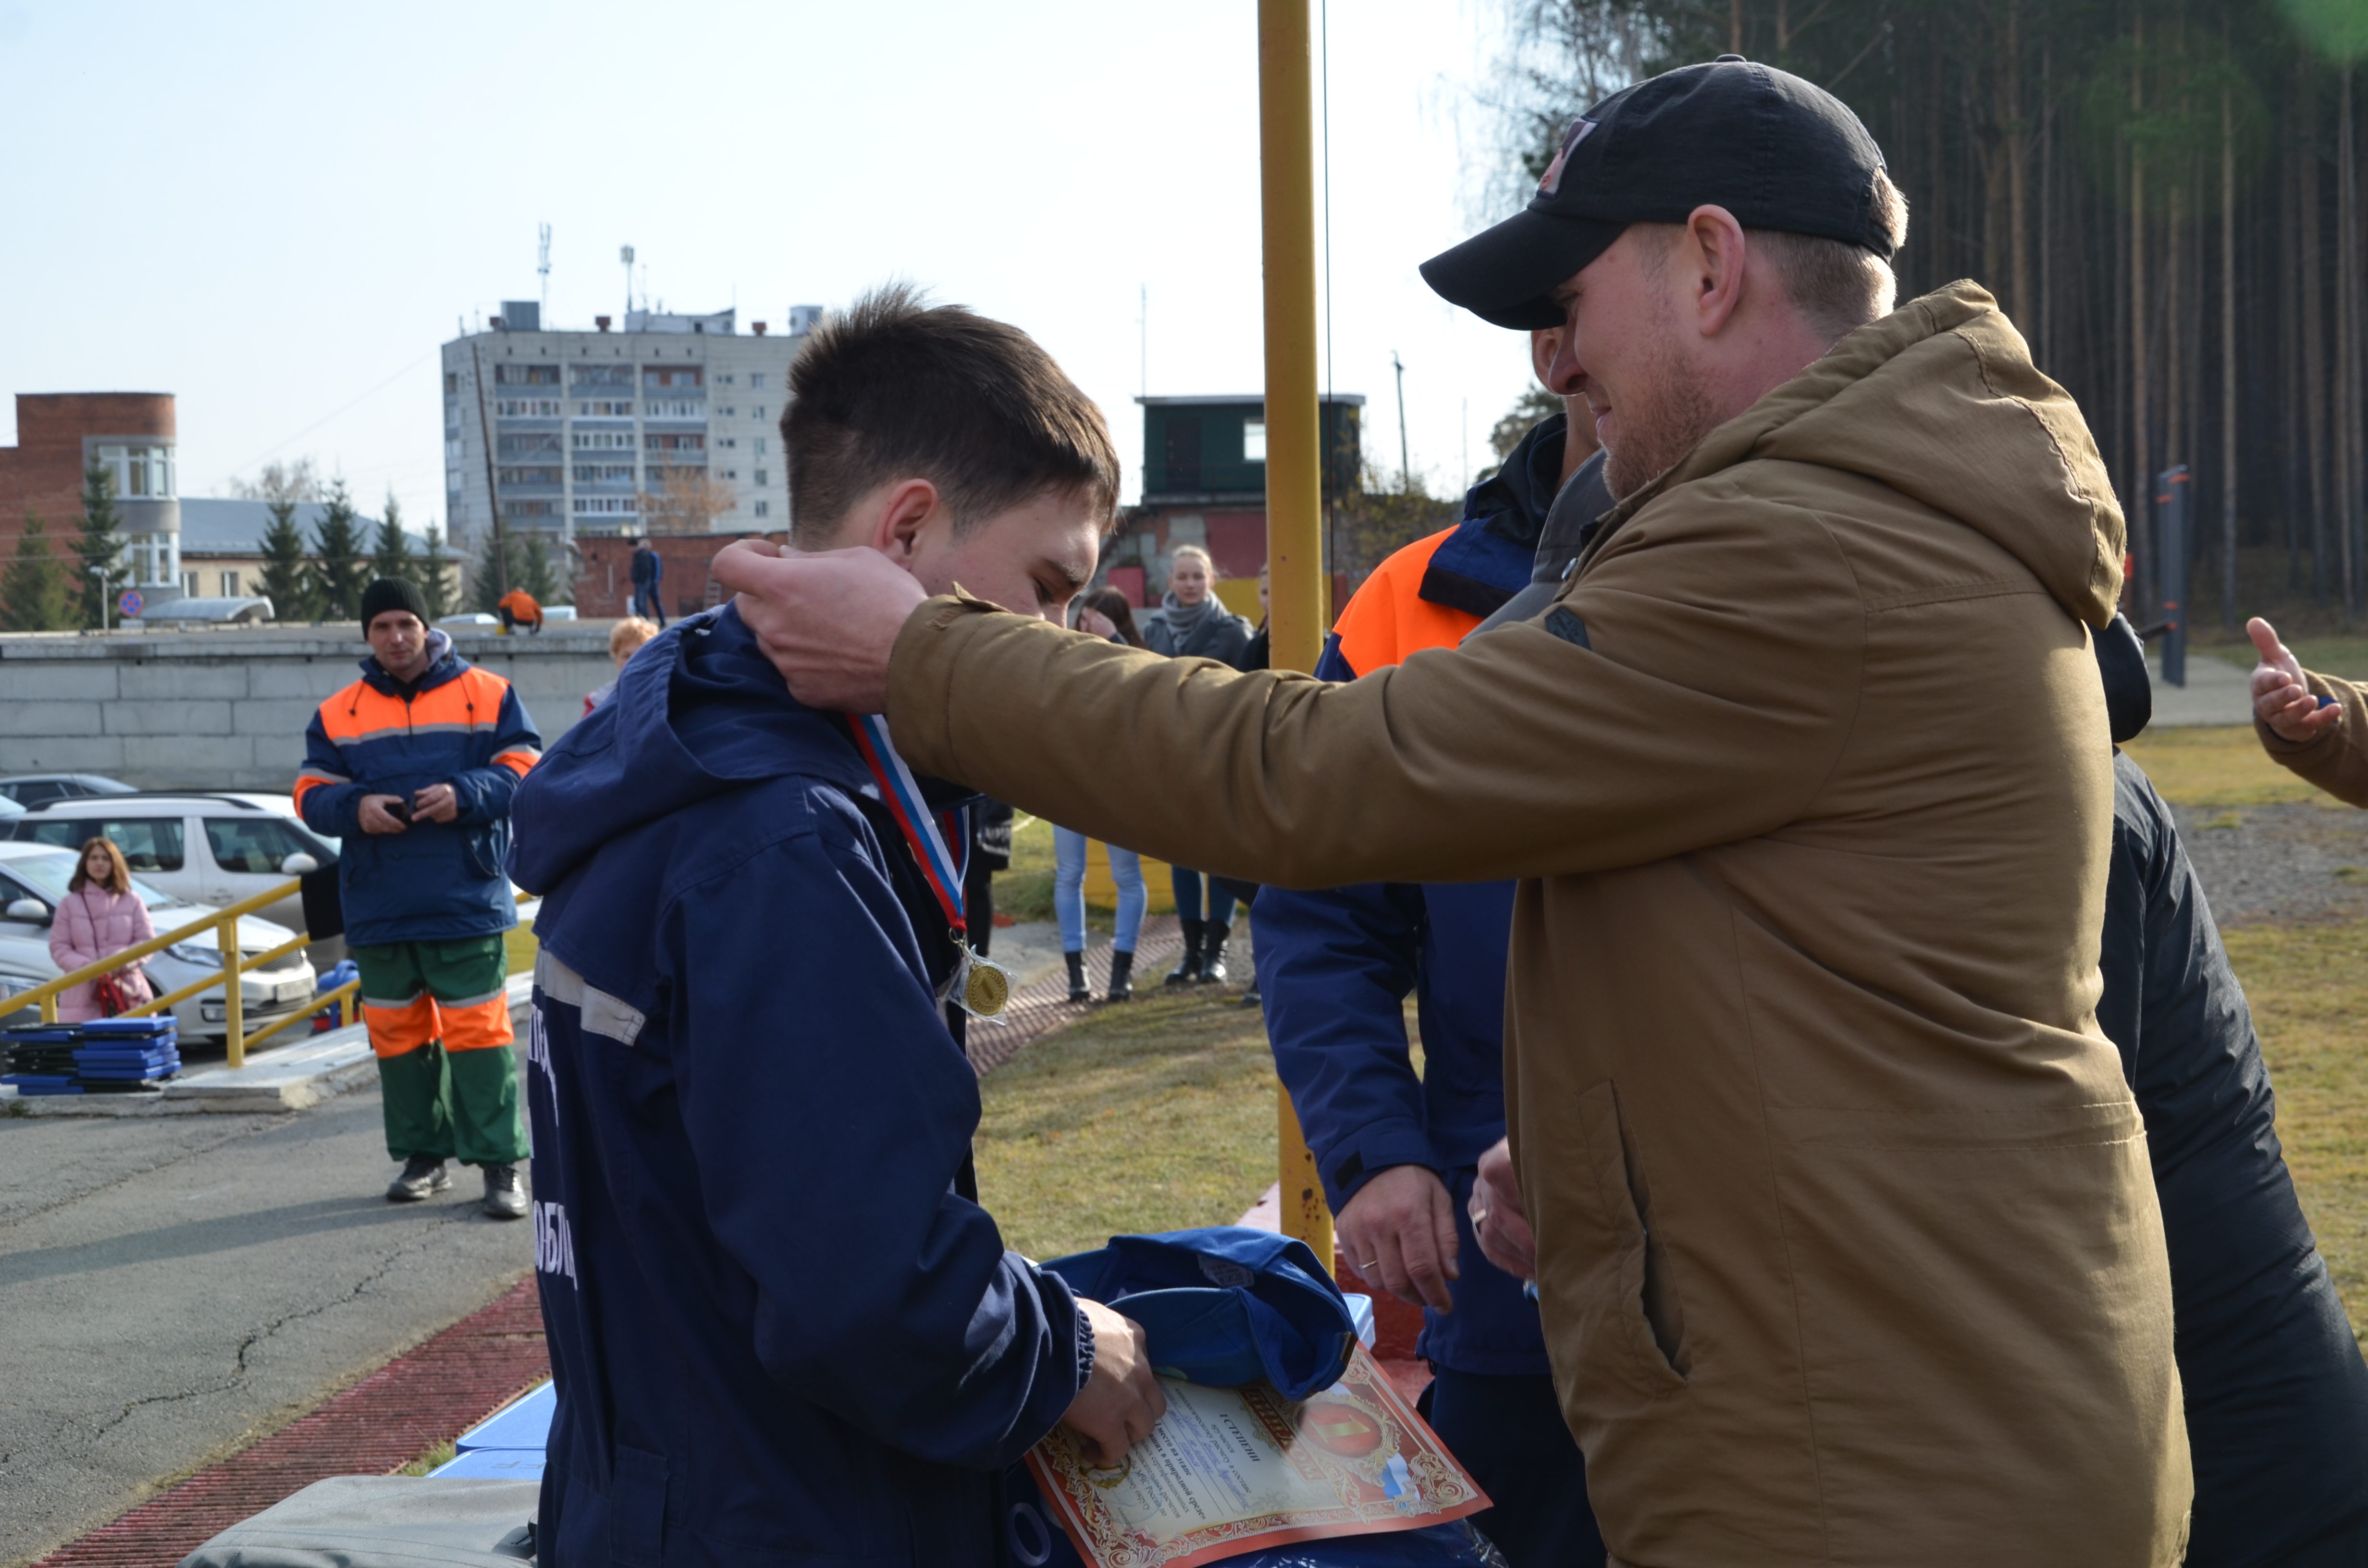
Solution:
[[[1317,149],[1307,0],[1257,0],[1257,194],[1267,249],[1267,632],[1276,670],[1324,647],[1324,438],[1317,410]],[[1331,1208],[1276,1090],[1283,1234],[1333,1265]]]

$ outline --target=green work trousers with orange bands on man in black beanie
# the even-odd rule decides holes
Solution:
[[[386,1153],[466,1165],[528,1156],[500,936],[353,947],[379,1054]]]

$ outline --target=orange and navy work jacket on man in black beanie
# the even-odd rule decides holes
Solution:
[[[429,668],[403,685],[362,661],[353,682],[313,713],[296,812],[317,834],[343,838],[339,893],[346,940],[448,943],[519,924],[502,869],[509,798],[542,756],[542,737],[509,682],[429,632]],[[362,796],[403,796],[450,784],[452,822],[414,820],[400,834],[365,834]]]

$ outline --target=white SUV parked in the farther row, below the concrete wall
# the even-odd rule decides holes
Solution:
[[[289,796],[159,793],[88,796],[50,801],[0,824],[17,843],[81,848],[88,838],[111,838],[133,874],[168,898],[223,910],[268,893],[289,876],[336,865],[336,838],[322,838],[296,817]],[[305,928],[296,895],[256,910],[294,936]],[[305,945],[315,969],[334,969],[346,957],[346,938]]]

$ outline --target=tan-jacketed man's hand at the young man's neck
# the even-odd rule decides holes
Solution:
[[[741,621],[807,708],[888,711],[888,656],[928,592],[879,550],[805,554],[739,540],[715,557]]]

